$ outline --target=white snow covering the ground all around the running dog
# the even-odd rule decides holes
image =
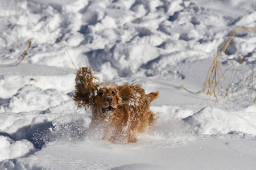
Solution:
[[[0,2],[0,169],[255,169],[256,91],[247,85],[256,83],[256,54],[225,99],[201,93],[222,42],[238,25],[256,26],[254,0],[17,2],[17,22],[15,1]],[[255,29],[234,42],[241,56],[254,52]],[[128,145],[86,135],[91,112],[72,100],[71,59],[101,81],[159,91],[154,129]]]

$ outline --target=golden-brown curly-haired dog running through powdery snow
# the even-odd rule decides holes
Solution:
[[[76,73],[73,100],[78,108],[92,110],[90,129],[100,129],[103,139],[113,143],[136,142],[137,134],[150,128],[157,118],[149,107],[159,92],[146,95],[141,84],[117,86],[96,80],[90,67]]]

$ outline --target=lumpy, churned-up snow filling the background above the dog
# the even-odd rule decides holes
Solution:
[[[216,10],[216,6],[209,7],[204,2],[199,5],[193,1],[181,0],[32,2],[68,46],[77,67],[90,65],[102,73],[111,69],[115,76],[137,73],[145,65],[149,68],[155,62],[155,67],[160,67],[158,71],[153,68],[153,75],[166,76],[170,71],[161,73],[164,73],[174,58],[175,65],[184,58],[212,56],[230,31],[226,25],[232,27],[242,20],[242,12],[251,10],[247,6],[246,10],[242,8],[240,13],[233,12],[230,15],[229,12]],[[228,6],[229,3],[239,8],[238,4],[234,5],[232,2],[225,5]],[[11,8],[7,1],[4,4],[8,9]],[[73,68],[57,37],[32,7],[26,2],[18,2],[18,7],[19,39],[24,42],[21,49],[26,49],[26,41],[32,38],[31,50],[23,63]],[[6,11],[5,8],[3,10]],[[10,18],[14,27],[14,14]],[[3,45],[9,48],[16,32],[7,28],[5,30],[7,34],[2,33],[0,37],[5,42]],[[247,37],[250,39],[250,36],[246,36],[246,39]],[[58,43],[54,43],[55,41]],[[249,49],[243,46],[242,50],[245,52],[253,48],[252,45]],[[2,63],[18,62],[22,57],[19,56],[22,50],[11,50],[11,53],[5,54]],[[178,55],[174,52],[178,52]],[[161,57],[162,55],[172,59]],[[112,78],[114,76],[108,77]]]

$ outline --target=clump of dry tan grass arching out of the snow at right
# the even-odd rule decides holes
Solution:
[[[236,79],[238,73],[240,75],[242,75],[243,78],[245,79],[245,76],[240,71],[240,66],[242,66],[243,61],[245,61],[245,60],[248,61],[247,58],[249,56],[251,56],[251,54],[255,53],[255,51],[247,54],[246,56],[241,57],[237,53],[237,48],[236,48],[236,45],[234,43],[234,36],[237,33],[245,32],[245,31],[251,31],[251,32],[255,33],[256,32],[256,27],[238,26],[232,33],[230,33],[229,37],[220,46],[216,56],[213,59],[213,63],[210,66],[210,69],[208,71],[207,78],[205,80],[203,90],[202,90],[203,93],[207,92],[207,94],[210,95],[210,96],[214,95],[216,100],[218,100],[217,99],[217,93],[218,94],[220,93],[221,96],[222,97],[224,96],[224,98],[225,98],[228,94],[231,93],[230,92],[230,86],[232,85],[232,83],[234,83],[234,80]],[[254,34],[254,36],[255,36],[255,34]],[[222,57],[228,57],[228,53],[226,52],[226,50],[227,50],[229,45],[232,45],[234,47],[234,51],[235,51],[235,54],[237,54],[238,61],[235,62],[235,63],[232,63],[232,61],[230,61],[230,59],[228,58],[228,61],[231,63],[231,66],[228,67],[228,69],[226,69],[225,71],[222,71],[221,67],[220,67],[220,62],[221,62]],[[234,69],[235,65],[238,65],[237,69]],[[237,92],[239,92],[243,87],[250,87],[251,88],[251,100],[253,100],[252,95],[253,95],[253,91],[254,91],[254,87],[253,87],[254,70],[253,70],[253,67],[251,67],[250,63],[248,65],[250,67],[250,70],[251,70],[252,74],[249,76],[249,78],[242,81],[244,83],[240,84],[240,88],[238,88]],[[226,73],[226,71],[228,71],[230,69],[234,69],[233,71],[236,71],[236,73],[234,73],[234,76],[233,76],[231,82],[228,82],[228,80],[225,78],[225,73]],[[226,89],[225,95],[222,94],[222,91],[224,91],[222,89],[222,84],[221,84],[222,80],[224,80],[224,82],[226,83],[226,86],[228,87]],[[250,86],[246,85],[250,81],[251,81],[251,85]],[[255,103],[255,101],[256,101],[256,97],[254,99],[254,103]]]

